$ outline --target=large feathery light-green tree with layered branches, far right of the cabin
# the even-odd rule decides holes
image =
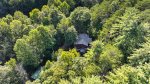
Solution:
[[[135,48],[139,48],[140,43],[145,42],[145,30],[139,25],[138,14],[137,9],[126,9],[125,14],[117,19],[109,31],[110,42],[122,50],[124,62],[127,62],[127,57]]]

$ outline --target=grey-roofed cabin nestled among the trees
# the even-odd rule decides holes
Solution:
[[[92,42],[92,38],[87,34],[79,34],[77,37],[77,41],[75,42],[75,47],[78,52],[85,53],[89,44]]]

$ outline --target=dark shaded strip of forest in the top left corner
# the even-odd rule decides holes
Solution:
[[[29,15],[29,12],[34,8],[40,9],[43,5],[47,4],[48,0],[26,0],[18,4],[10,5],[10,3],[4,3],[0,1],[0,18],[6,16],[7,14],[13,14],[15,11],[21,11],[25,15]]]

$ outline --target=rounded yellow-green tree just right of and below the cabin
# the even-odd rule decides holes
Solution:
[[[99,56],[99,67],[101,69],[101,73],[105,74],[109,70],[120,66],[122,57],[123,55],[117,47],[110,44],[105,45]]]

